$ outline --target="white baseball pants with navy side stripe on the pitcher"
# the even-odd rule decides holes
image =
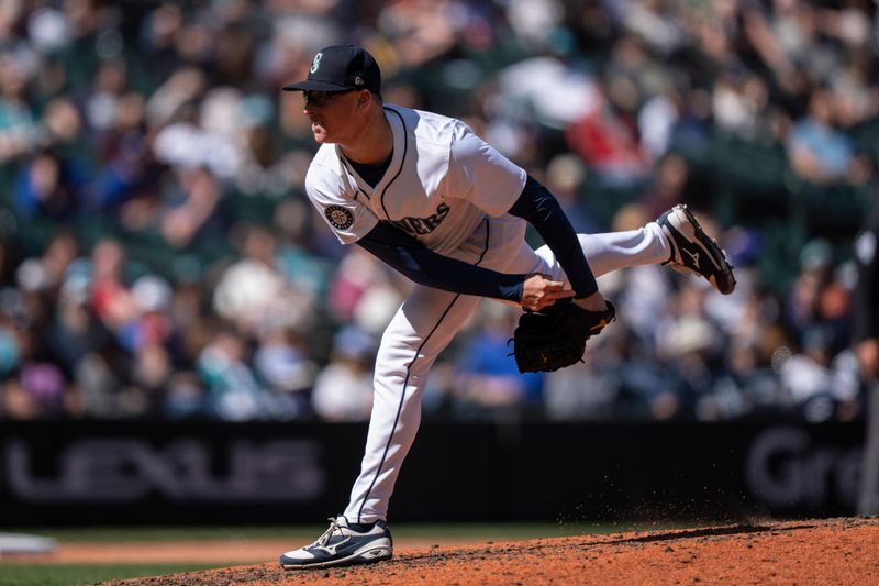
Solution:
[[[533,251],[521,237],[498,245],[490,236],[483,239],[479,266],[505,273],[544,273],[567,283],[548,246]],[[663,263],[671,255],[668,241],[655,222],[626,232],[579,234],[579,239],[596,276]],[[345,509],[348,521],[369,523],[387,519],[397,475],[421,422],[421,397],[427,373],[479,300],[416,285],[385,330],[376,357],[366,453]]]

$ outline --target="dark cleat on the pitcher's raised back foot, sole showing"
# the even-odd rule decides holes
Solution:
[[[702,231],[696,215],[687,206],[678,204],[660,215],[656,222],[671,243],[671,258],[663,264],[681,273],[701,275],[724,295],[735,289],[733,267],[717,241]]]

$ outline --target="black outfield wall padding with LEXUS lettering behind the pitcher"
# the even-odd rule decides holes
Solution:
[[[318,522],[365,424],[0,423],[0,527]],[[853,515],[863,423],[425,422],[396,521]]]

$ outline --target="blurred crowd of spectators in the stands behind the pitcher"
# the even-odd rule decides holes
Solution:
[[[868,0],[0,0],[0,419],[368,418],[410,285],[315,214],[316,145],[279,91],[347,42],[386,101],[467,121],[578,231],[686,202],[736,265],[731,296],[602,277],[617,321],[545,375],[483,301],[425,417],[861,416]]]

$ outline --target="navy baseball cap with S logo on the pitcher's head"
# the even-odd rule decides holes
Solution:
[[[381,93],[381,70],[363,47],[333,45],[314,55],[304,81],[283,86],[287,91],[351,91]]]

